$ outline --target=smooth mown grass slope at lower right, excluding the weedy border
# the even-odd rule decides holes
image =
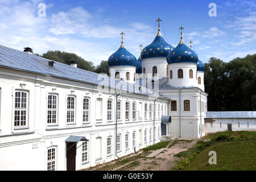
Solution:
[[[217,164],[210,165],[209,151],[216,151]],[[184,170],[256,170],[256,141],[218,142],[200,152]]]

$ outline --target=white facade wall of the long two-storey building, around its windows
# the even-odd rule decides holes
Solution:
[[[14,129],[14,98],[15,89],[25,89],[29,92],[28,98],[28,128]],[[88,168],[98,163],[109,162],[117,159],[114,155],[115,147],[115,94],[105,94],[93,90],[93,85],[61,78],[35,75],[11,69],[0,69],[0,169],[1,170],[47,170],[47,148],[56,146],[56,169],[66,169],[66,144],[65,139],[70,135],[85,136],[89,139],[89,163],[81,163],[81,142],[77,143],[76,169]],[[47,125],[47,98],[48,93],[58,95],[57,123]],[[67,96],[76,96],[76,119],[73,125],[67,125]],[[82,123],[82,101],[84,96],[90,97],[89,122]],[[102,119],[96,122],[97,98],[102,98]],[[113,101],[112,120],[107,121],[107,101]],[[153,144],[153,139],[144,143],[144,129],[147,132],[152,128],[153,118],[144,119],[144,104],[154,104],[155,98],[139,94],[126,94],[118,96],[121,101],[121,120],[118,121],[118,133],[122,134],[122,151],[118,156],[124,156],[134,152],[132,145],[132,133],[136,131],[136,150]],[[125,102],[136,102],[137,111],[139,103],[142,103],[141,118],[125,119]],[[167,105],[168,100],[158,99],[158,104]],[[153,114],[153,113],[152,113]],[[147,111],[148,115],[148,111]],[[162,115],[162,114],[161,114]],[[158,109],[156,109],[155,127],[156,133],[160,127]],[[139,130],[142,130],[142,146],[138,145]],[[125,133],[129,133],[129,150],[125,150]],[[106,155],[106,138],[112,136],[112,156]],[[158,134],[157,134],[158,136]],[[102,137],[102,159],[96,162],[94,143],[97,137]],[[152,134],[153,138],[153,134]],[[160,141],[157,137],[155,143]],[[33,148],[34,146],[34,148]]]

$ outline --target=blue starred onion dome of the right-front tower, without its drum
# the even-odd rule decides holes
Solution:
[[[198,56],[195,51],[188,48],[182,38],[179,45],[175,47],[166,57],[167,63],[197,63]]]

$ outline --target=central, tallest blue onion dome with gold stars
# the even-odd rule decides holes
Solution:
[[[150,57],[166,57],[172,49],[174,49],[174,47],[163,39],[163,36],[159,31],[155,40],[142,50],[141,59]]]

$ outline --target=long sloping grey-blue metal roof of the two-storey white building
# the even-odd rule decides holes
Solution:
[[[114,78],[110,79],[110,77],[108,76],[100,75],[98,73],[86,71],[84,69],[76,67],[71,67],[70,65],[59,63],[57,61],[53,61],[53,67],[50,67],[48,64],[49,61],[52,60],[48,60],[40,56],[0,45],[0,67],[7,67],[11,69],[18,69],[21,71],[39,73],[47,76],[60,77],[68,80],[86,82],[94,85],[102,84],[102,78],[104,78],[104,80],[106,81],[104,86],[109,86],[113,88],[113,86],[117,84],[124,85],[120,89],[124,92],[127,92],[127,90],[129,90],[129,86],[132,86],[132,91],[134,93],[155,97],[154,92],[142,93],[141,90],[139,90],[139,85],[137,84],[130,84],[126,81],[121,81]],[[162,95],[158,95],[158,97],[168,99]]]

